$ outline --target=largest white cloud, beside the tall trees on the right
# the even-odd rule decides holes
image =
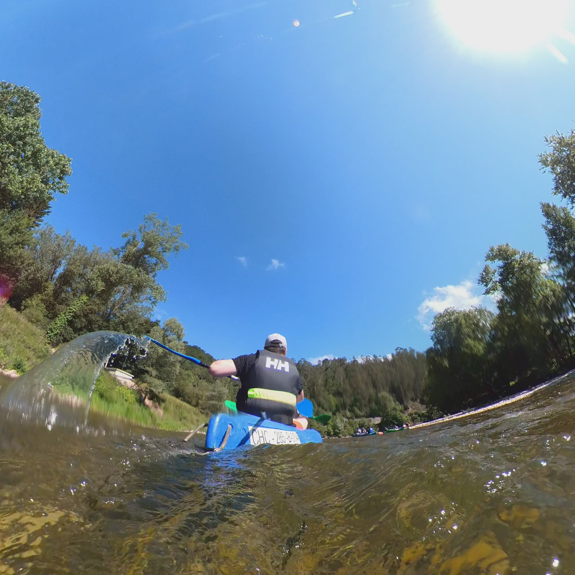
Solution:
[[[431,328],[431,321],[436,313],[443,312],[447,308],[469,309],[473,306],[493,305],[493,297],[482,296],[477,293],[478,287],[469,279],[462,281],[458,286],[435,287],[434,295],[428,297],[417,308],[417,320],[421,327],[428,331]]]

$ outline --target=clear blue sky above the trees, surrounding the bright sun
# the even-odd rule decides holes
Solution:
[[[48,221],[104,247],[148,212],[182,224],[158,314],[216,357],[275,331],[296,359],[424,350],[434,311],[482,301],[491,244],[546,255],[536,156],[575,117],[568,33],[478,49],[435,0],[2,11],[1,77],[74,160]]]

